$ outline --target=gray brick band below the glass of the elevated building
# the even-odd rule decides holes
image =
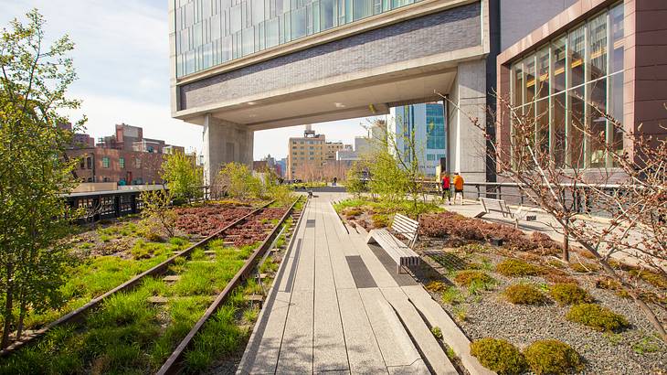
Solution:
[[[479,46],[480,14],[463,5],[187,83],[179,110]]]

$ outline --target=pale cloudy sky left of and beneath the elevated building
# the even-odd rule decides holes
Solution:
[[[166,0],[0,0],[0,27],[15,17],[25,21],[33,7],[47,20],[47,38],[68,34],[76,45],[71,57],[79,79],[69,96],[83,103],[72,122],[85,113],[86,133],[95,138],[113,134],[116,123],[141,126],[147,138],[201,152],[202,128],[171,118]],[[313,124],[313,130],[352,144],[365,134],[361,123]],[[302,133],[302,126],[256,132],[255,159],[284,157],[288,138]]]

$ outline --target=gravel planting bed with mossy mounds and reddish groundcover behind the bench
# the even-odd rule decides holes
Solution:
[[[581,356],[579,370],[585,373],[662,374],[667,369],[667,345],[585,252],[572,250],[571,263],[561,263],[558,244],[543,235],[450,212],[421,217],[420,228],[417,251],[425,262],[415,274],[471,340],[502,338],[520,349],[537,340],[560,340]],[[504,246],[489,245],[490,238],[503,239]],[[641,285],[664,322],[667,281],[614,265]],[[568,315],[568,304],[586,303],[619,316]],[[581,317],[596,325],[606,322],[609,331],[587,327]]]

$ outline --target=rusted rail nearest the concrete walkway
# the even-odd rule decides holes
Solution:
[[[208,306],[204,315],[201,318],[199,318],[195,326],[192,327],[190,332],[188,332],[185,338],[175,348],[171,356],[169,356],[169,358],[166,359],[160,370],[157,371],[158,375],[176,374],[179,372],[179,370],[181,370],[181,360],[183,359],[185,350],[192,343],[193,339],[196,337],[197,332],[199,332],[199,330],[206,324],[206,321],[216,313],[220,305],[224,304],[225,301],[227,301],[228,296],[231,295],[231,292],[234,290],[234,288],[236,288],[238,284],[240,284],[241,282],[243,282],[248,278],[249,273],[252,272],[252,270],[259,262],[259,259],[261,259],[261,257],[264,255],[264,253],[270,250],[270,246],[273,243],[273,240],[278,236],[278,233],[280,232],[281,225],[285,222],[285,220],[287,220],[290,217],[291,211],[294,209],[294,206],[296,206],[296,204],[299,202],[300,199],[301,197],[294,200],[294,203],[292,203],[290,208],[287,209],[287,211],[282,216],[278,224],[276,224],[273,230],[271,230],[271,232],[264,239],[264,241],[261,242],[259,248],[257,248],[257,250],[255,250],[255,252],[253,252],[249,256],[246,263],[243,264],[240,270],[238,270],[238,273],[236,273],[234,277],[229,281],[227,286],[225,286],[225,289],[223,289],[223,291],[220,292],[219,295],[217,295],[215,301],[213,301],[213,303]]]

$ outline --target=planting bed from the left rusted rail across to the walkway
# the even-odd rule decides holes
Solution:
[[[265,209],[249,218],[245,226],[253,229],[253,236],[244,238],[248,244],[210,241],[196,248],[189,261],[176,258],[167,273],[112,295],[81,325],[52,329],[35,345],[0,359],[0,374],[154,373],[255,251],[257,238],[263,240],[285,210]],[[284,246],[284,241],[278,242]],[[234,289],[185,352],[185,372],[240,359],[259,313],[258,303],[245,296],[262,295],[280,261],[272,254],[258,267],[263,279],[249,279]]]

